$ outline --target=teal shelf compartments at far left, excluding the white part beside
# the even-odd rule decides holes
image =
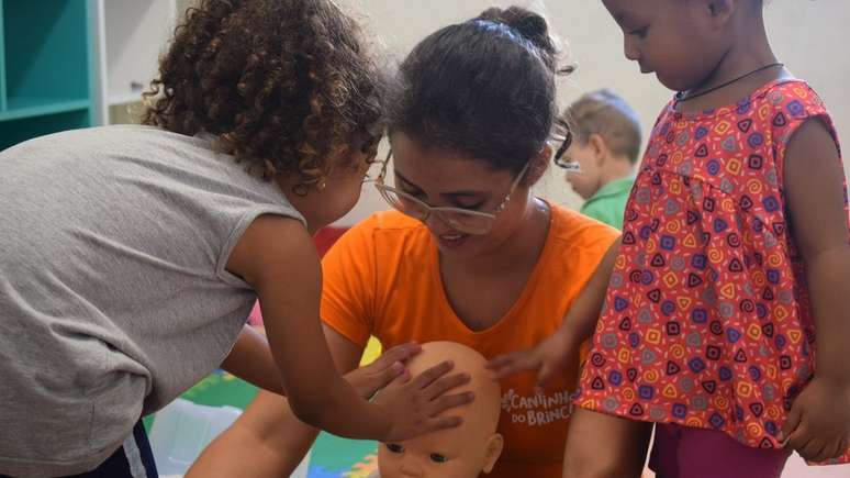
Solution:
[[[0,151],[97,122],[92,0],[0,0]]]

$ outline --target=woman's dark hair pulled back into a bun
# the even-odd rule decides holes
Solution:
[[[558,56],[546,20],[518,7],[446,26],[402,63],[390,132],[516,174],[558,121],[555,77],[572,70]]]

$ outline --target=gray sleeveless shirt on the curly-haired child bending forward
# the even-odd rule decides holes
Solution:
[[[149,413],[214,370],[256,299],[225,265],[260,214],[304,221],[209,138],[108,126],[0,153],[7,419],[122,374]]]

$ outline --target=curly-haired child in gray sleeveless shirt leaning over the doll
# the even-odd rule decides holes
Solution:
[[[370,403],[318,320],[311,234],[356,203],[383,133],[361,36],[328,0],[205,0],[145,125],[0,154],[0,475],[156,476],[139,419],[220,365],[343,436],[458,424],[436,418],[471,400],[444,394],[467,380],[451,364],[410,379],[401,346],[368,379],[405,385]],[[257,297],[271,347],[244,327]]]

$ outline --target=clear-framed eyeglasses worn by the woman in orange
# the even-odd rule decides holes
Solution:
[[[514,182],[511,185],[507,194],[505,194],[502,202],[499,203],[493,212],[481,212],[462,208],[433,207],[404,191],[387,186],[383,180],[387,175],[387,165],[390,163],[392,151],[390,151],[387,155],[387,159],[383,162],[381,174],[378,176],[378,179],[376,179],[374,187],[393,209],[422,222],[426,222],[433,214],[448,224],[451,229],[472,235],[486,234],[493,229],[496,218],[499,218],[499,214],[507,205],[507,202],[511,200],[511,194],[513,194],[516,187],[519,186],[519,181],[525,176],[525,173],[528,170],[528,165],[530,164],[526,163],[523,170],[519,171],[514,179]]]

